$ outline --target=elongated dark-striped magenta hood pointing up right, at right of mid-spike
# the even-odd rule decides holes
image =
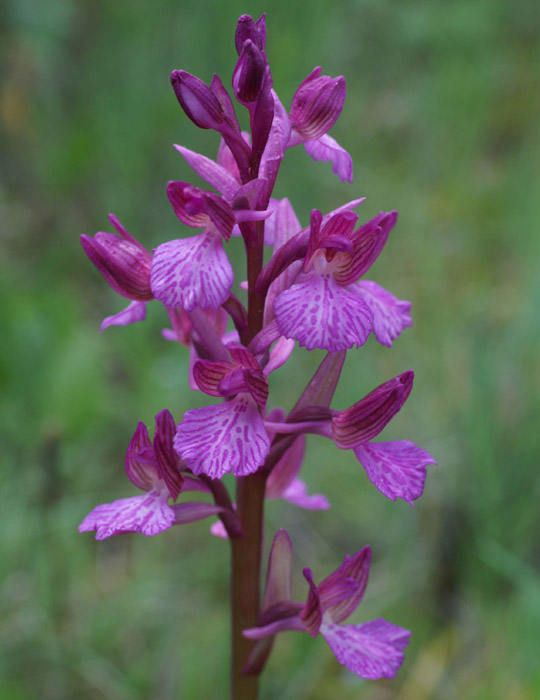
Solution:
[[[342,450],[349,450],[376,437],[401,410],[414,380],[409,370],[376,389],[332,419],[334,442]]]

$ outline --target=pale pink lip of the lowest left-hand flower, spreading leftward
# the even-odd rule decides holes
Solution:
[[[79,532],[95,530],[96,540],[125,532],[157,535],[174,524],[174,510],[167,505],[168,495],[165,490],[150,491],[97,506],[79,525]]]

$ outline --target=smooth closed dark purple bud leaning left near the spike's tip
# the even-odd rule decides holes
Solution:
[[[217,129],[223,123],[223,108],[212,90],[191,73],[173,70],[171,85],[186,115],[201,129]]]

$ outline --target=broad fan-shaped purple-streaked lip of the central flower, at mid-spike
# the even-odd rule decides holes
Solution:
[[[184,414],[174,439],[175,450],[194,474],[221,478],[232,471],[247,476],[263,464],[270,440],[251,396],[239,394],[217,406]]]

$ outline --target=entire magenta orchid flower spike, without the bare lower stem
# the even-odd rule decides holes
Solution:
[[[221,481],[229,472],[239,478],[259,474],[266,498],[328,509],[326,497],[310,495],[298,477],[306,435],[312,433],[352,450],[369,480],[392,500],[412,504],[422,494],[426,466],[435,463],[407,440],[375,441],[407,400],[412,371],[381,383],[345,410],[331,407],[346,352],[372,333],[390,347],[411,325],[410,303],[364,277],[394,229],[397,213],[381,212],[359,224],[353,210],[360,198],[324,215],[314,209],[309,225],[302,227],[288,199],[272,198],[288,148],[302,144],[314,160],[330,162],[343,181],[352,180],[352,161],[328,134],[343,108],[344,78],[321,75],[315,68],[287,111],[273,89],[265,43],[264,15],[257,21],[242,16],[235,34],[232,93],[247,109],[249,133],[241,130],[231,95],[217,75],[210,85],[182,70],[171,75],[187,117],[220,136],[215,160],[175,146],[212,188],[187,182],[167,186],[178,219],[200,231],[150,253],[111,215],[116,234],[81,237],[108,284],[130,300],[103,321],[101,330],[141,321],[147,304],[162,304],[171,324],[164,337],[190,350],[191,388],[221,399],[186,411],[178,424],[168,410],[161,411],[152,441],[146,426],[138,424],[125,468],[144,493],[92,510],[79,530],[95,530],[97,539],[125,532],[155,535],[209,516],[219,518],[214,534],[242,537],[246,523]],[[232,236],[244,241],[248,270],[247,283],[240,283],[236,293],[226,252]],[[265,266],[264,246],[272,251]],[[246,288],[247,305],[241,300]],[[286,413],[269,407],[268,375],[287,362],[297,342],[328,354]],[[177,503],[187,492],[211,501]],[[364,678],[395,675],[409,632],[383,619],[340,624],[362,599],[369,561],[370,549],[364,547],[319,585],[305,569],[307,601],[295,603],[292,545],[287,533],[278,532],[258,624],[244,631],[257,640],[246,673],[260,672],[276,633],[299,630],[321,634],[338,661]]]

